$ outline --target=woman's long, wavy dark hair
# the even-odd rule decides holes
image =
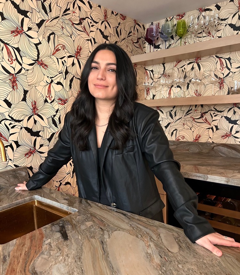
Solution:
[[[138,97],[132,62],[126,52],[116,44],[101,44],[91,53],[82,70],[80,92],[72,106],[71,139],[81,151],[88,149],[87,137],[95,126],[95,99],[88,89],[88,76],[94,56],[100,50],[112,51],[117,61],[118,95],[108,123],[109,131],[115,140],[111,148],[121,149],[127,140],[135,136],[128,126],[134,114],[134,101]]]

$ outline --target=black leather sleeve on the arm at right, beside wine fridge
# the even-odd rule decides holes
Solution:
[[[182,225],[190,241],[195,242],[215,231],[204,217],[198,216],[198,197],[186,184],[180,172],[180,164],[174,160],[158,117],[157,111],[151,112],[142,123],[140,132],[142,152],[150,169],[162,182],[175,211],[175,218]]]

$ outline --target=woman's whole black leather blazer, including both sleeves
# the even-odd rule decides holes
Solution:
[[[194,242],[214,230],[205,218],[197,215],[197,196],[185,183],[179,171],[180,164],[174,160],[158,118],[157,111],[135,103],[134,116],[129,126],[134,129],[136,138],[128,140],[122,150],[110,149],[114,139],[109,129],[106,129],[100,156],[102,182],[112,206],[151,218],[164,207],[155,174],[168,194],[175,210],[174,216],[183,226],[187,237]],[[90,149],[79,151],[70,141],[70,121],[69,112],[57,143],[26,187],[28,190],[40,188],[72,158],[79,197],[99,202],[96,129],[93,127],[88,137]]]

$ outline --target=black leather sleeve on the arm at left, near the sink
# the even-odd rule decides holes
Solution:
[[[70,159],[70,113],[68,113],[64,119],[64,126],[59,132],[58,141],[49,150],[46,159],[39,166],[38,172],[34,173],[26,183],[27,189],[38,189],[48,183]]]

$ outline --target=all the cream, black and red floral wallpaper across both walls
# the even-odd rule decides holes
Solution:
[[[210,8],[220,12],[218,38],[238,34],[238,1],[190,13],[208,12]],[[190,13],[172,20],[176,24]],[[159,26],[163,22],[159,21]],[[104,42],[117,43],[129,55],[148,52],[150,46],[144,39],[148,26],[86,0],[0,0],[0,139],[7,152],[7,162],[0,162],[0,170],[26,165],[30,176],[36,172],[58,139],[66,112],[79,92],[81,71],[90,53]],[[207,34],[209,39],[210,35]],[[200,42],[200,32],[197,39]],[[170,38],[171,47],[180,47],[179,43],[175,35]],[[190,43],[190,34],[182,43]],[[158,39],[157,50],[163,47]],[[218,70],[218,83],[212,89],[203,81],[198,96],[224,95],[229,93],[230,79],[240,79],[240,52],[146,68],[134,65],[139,99],[144,94],[141,84],[145,71],[154,80],[159,72],[173,67],[186,71],[198,67],[202,74]],[[196,96],[194,89],[187,84],[169,89],[157,85],[148,89],[147,99]],[[239,144],[237,103],[155,109],[169,140]],[[63,166],[46,186],[78,196],[72,162]]]

